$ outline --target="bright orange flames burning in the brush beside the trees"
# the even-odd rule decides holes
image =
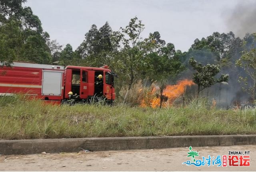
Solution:
[[[168,104],[172,105],[176,98],[180,97],[186,91],[187,86],[194,85],[192,80],[181,80],[178,81],[176,85],[167,85],[163,90],[163,95],[168,98]],[[159,92],[159,87],[153,87],[151,92],[146,93],[142,102],[140,104],[141,107],[152,107],[157,108],[160,106],[160,96],[157,96],[157,92]],[[166,104],[162,104],[162,106],[166,106]]]

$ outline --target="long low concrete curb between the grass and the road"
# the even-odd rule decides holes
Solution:
[[[82,149],[92,151],[112,151],[127,149],[163,149],[172,147],[211,147],[231,145],[256,145],[256,135],[1,140],[0,154],[8,155],[36,154],[41,152],[78,152]]]

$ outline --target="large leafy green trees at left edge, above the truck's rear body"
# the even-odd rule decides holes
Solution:
[[[50,35],[43,32],[38,16],[30,7],[22,7],[26,0],[0,1],[0,62],[28,61],[50,64]]]

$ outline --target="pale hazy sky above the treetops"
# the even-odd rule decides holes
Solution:
[[[73,50],[92,24],[100,28],[108,22],[117,31],[135,16],[145,25],[143,38],[158,31],[161,39],[182,51],[188,51],[196,38],[214,31],[233,31],[243,37],[255,28],[255,24],[242,27],[248,23],[244,20],[256,23],[254,16],[248,17],[256,11],[254,0],[28,0],[24,6],[32,8],[52,40],[61,45],[70,43]]]

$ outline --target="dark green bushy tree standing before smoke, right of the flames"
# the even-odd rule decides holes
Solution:
[[[206,66],[203,66],[202,63],[197,64],[196,60],[193,57],[190,58],[189,64],[196,71],[193,74],[193,82],[198,86],[197,98],[199,96],[199,92],[201,92],[205,88],[208,88],[216,83],[228,81],[228,74],[221,74],[220,78],[218,79],[214,78],[214,76],[216,76],[216,74],[220,72],[219,65],[207,64]]]

